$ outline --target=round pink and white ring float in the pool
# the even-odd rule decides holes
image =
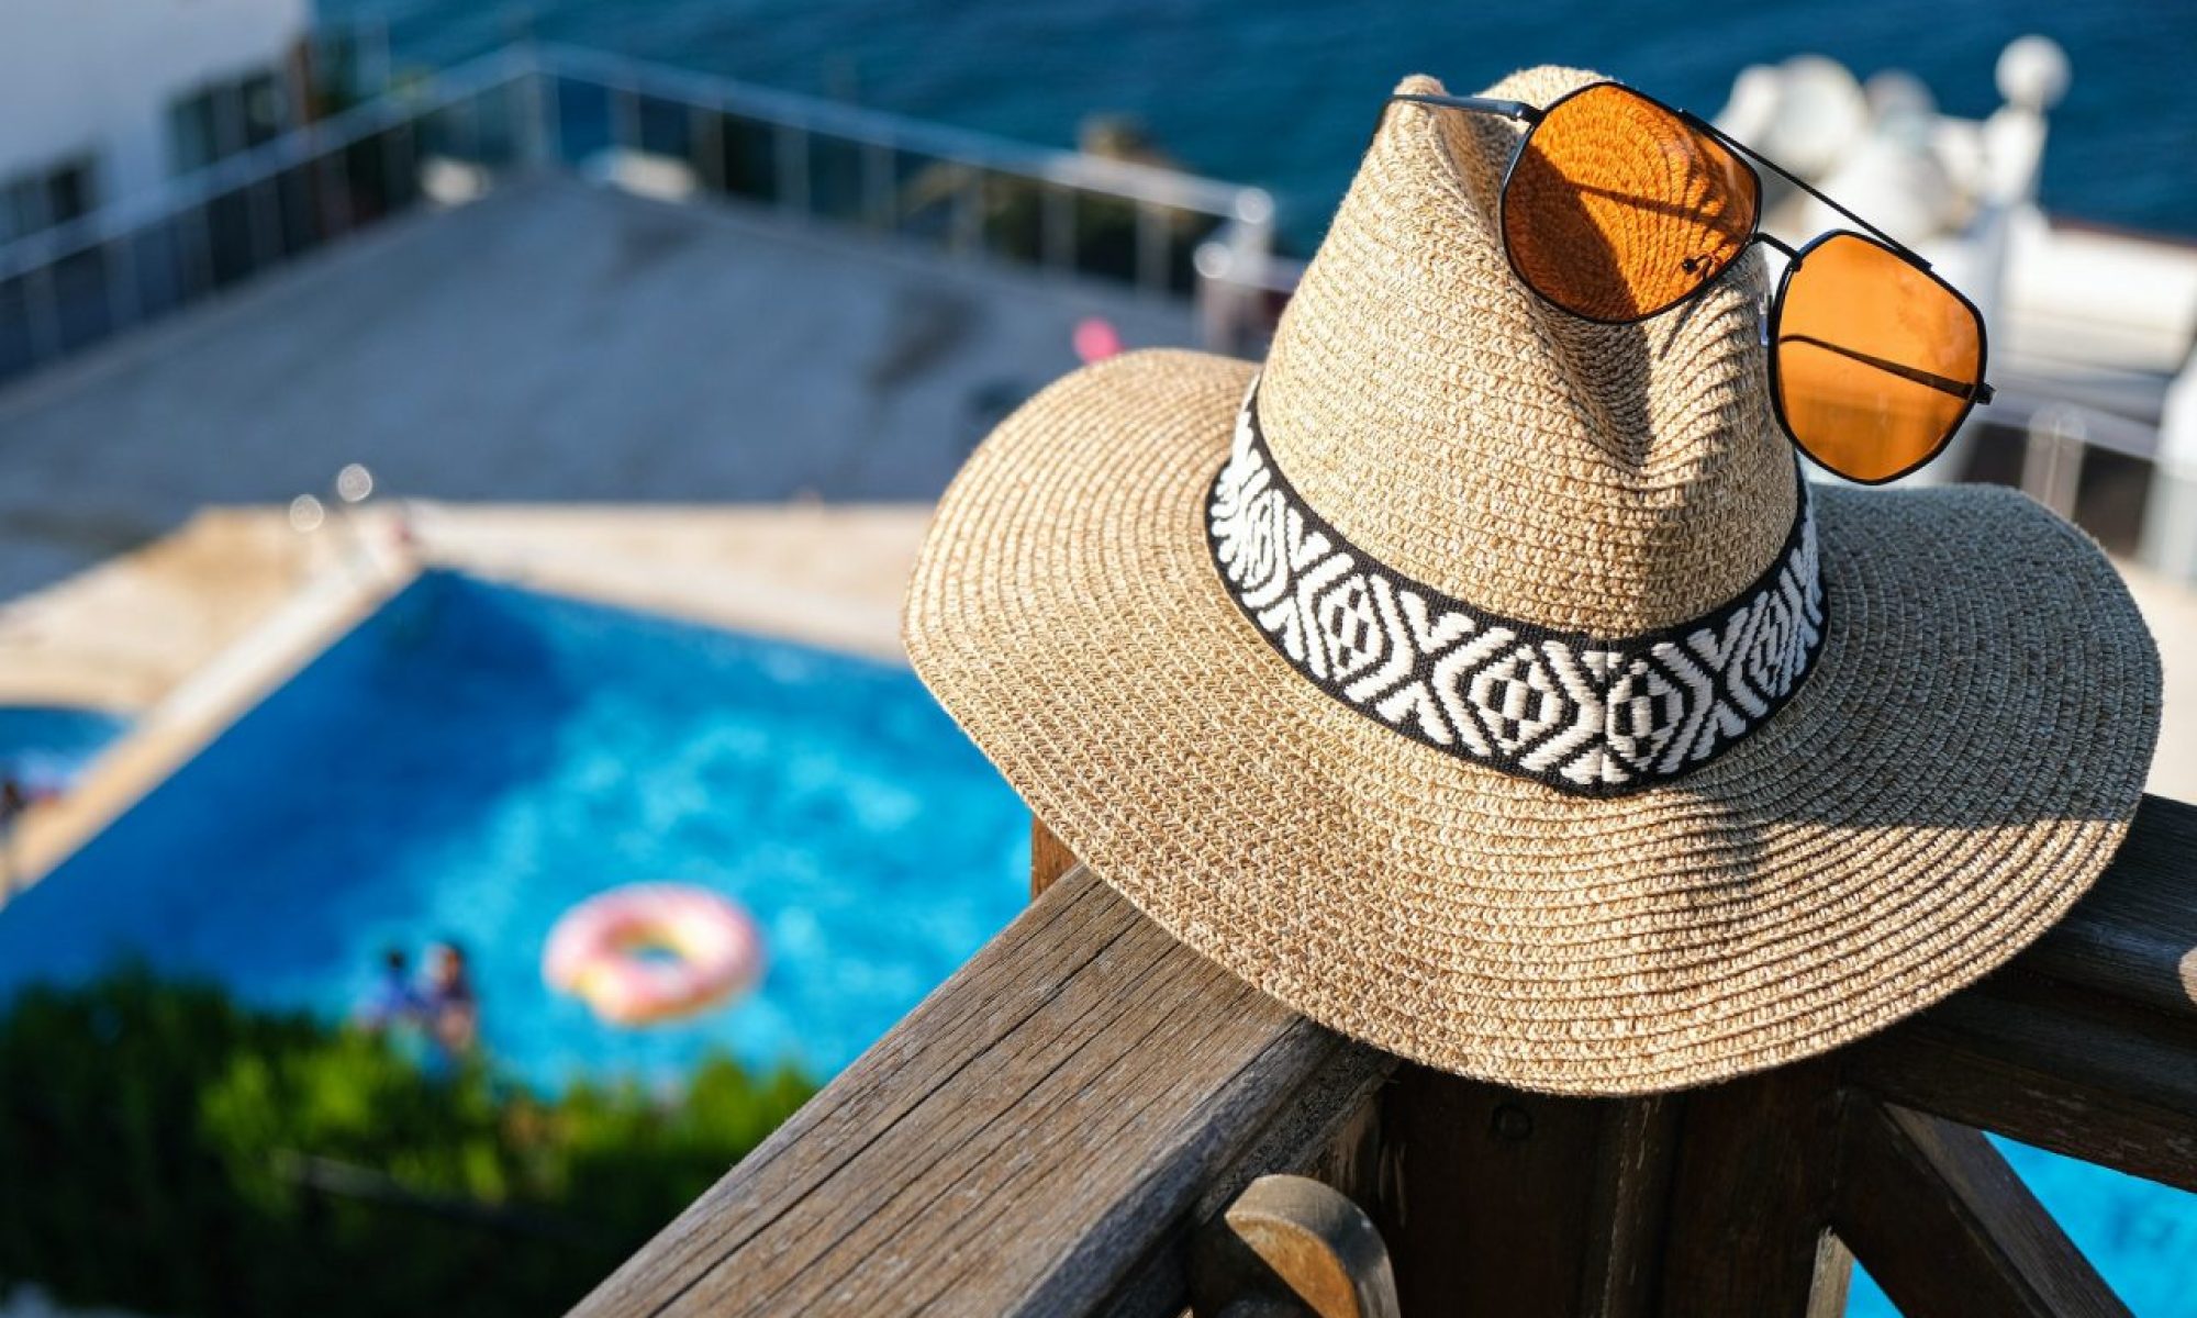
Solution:
[[[543,980],[613,1026],[716,1006],[762,978],[762,936],[707,887],[635,883],[565,912],[543,951]]]

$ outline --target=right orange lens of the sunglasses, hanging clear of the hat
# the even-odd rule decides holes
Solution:
[[[1839,233],[1810,248],[1777,312],[1777,402],[1808,457],[1852,481],[1927,461],[1975,398],[1984,325],[1936,275]]]

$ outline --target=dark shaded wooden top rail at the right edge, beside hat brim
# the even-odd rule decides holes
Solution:
[[[2015,967],[2197,1015],[2197,806],[2144,797],[2111,868]]]

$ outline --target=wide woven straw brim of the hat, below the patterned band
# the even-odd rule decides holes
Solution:
[[[1824,1052],[1984,975],[2098,876],[2157,736],[2105,556],[2006,490],[1819,490],[1830,635],[1679,782],[1577,797],[1301,679],[1204,503],[1252,367],[1044,391],[938,505],[916,672],[1055,835],[1303,1015],[1450,1072],[1635,1094]]]

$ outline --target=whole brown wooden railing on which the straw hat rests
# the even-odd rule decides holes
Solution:
[[[1852,1256],[1909,1318],[2122,1314],[1977,1127],[2197,1191],[2197,808],[1949,1002],[1626,1101],[1340,1039],[1072,868],[578,1314],[1180,1314],[1268,1173],[1364,1206],[1413,1316],[1830,1316]]]

